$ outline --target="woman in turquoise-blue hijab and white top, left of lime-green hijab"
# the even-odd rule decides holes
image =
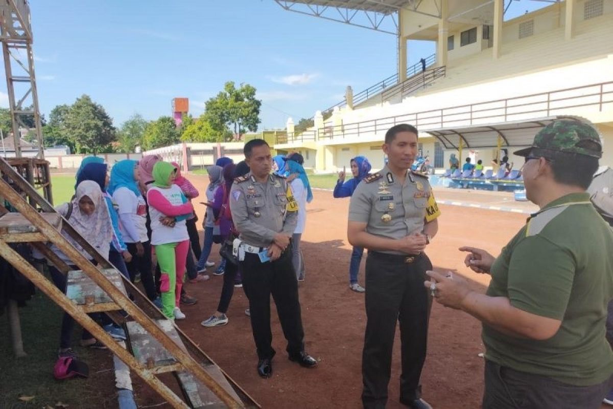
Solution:
[[[147,292],[147,298],[159,304],[158,292],[151,273],[151,245],[147,236],[147,205],[139,185],[139,162],[124,159],[113,166],[109,194],[117,204],[120,218],[120,231],[123,241],[132,254],[132,260],[126,263],[130,281],[134,283],[137,272]]]

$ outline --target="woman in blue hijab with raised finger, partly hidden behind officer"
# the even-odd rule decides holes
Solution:
[[[332,196],[334,197],[350,197],[356,190],[358,183],[368,176],[371,166],[368,159],[364,156],[356,156],[351,159],[351,174],[352,179],[345,182],[345,170],[338,172],[338,182],[334,187]],[[357,274],[360,271],[360,262],[362,262],[362,254],[364,248],[354,247],[351,251],[351,262],[349,263],[349,288],[355,292],[364,292],[364,287],[357,283]]]

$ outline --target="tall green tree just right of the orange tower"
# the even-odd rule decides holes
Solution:
[[[256,88],[245,83],[236,88],[229,81],[223,91],[205,103],[205,115],[214,129],[221,132],[222,126],[230,126],[240,139],[245,131],[257,131],[261,105],[262,101],[256,99]]]

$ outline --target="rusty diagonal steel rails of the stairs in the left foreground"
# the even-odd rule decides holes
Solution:
[[[55,212],[55,209],[51,207],[51,205],[47,201],[45,201],[36,192],[36,190],[32,188],[32,186],[29,185],[28,182],[26,182],[26,180],[24,180],[21,177],[21,175],[15,172],[15,170],[2,158],[0,158],[0,172],[7,174],[9,178],[13,180],[13,182],[17,183],[17,185],[23,191],[25,191],[25,193],[28,194],[29,197],[34,199],[34,201],[42,208],[44,212]],[[197,378],[197,380],[204,383],[205,386],[207,386],[207,388],[211,390],[211,392],[213,392],[216,396],[218,396],[219,399],[221,399],[227,405],[227,407],[229,408],[243,407],[242,402],[237,402],[234,399],[234,397],[232,397],[225,389],[223,389],[216,382],[216,380],[204,370],[202,365],[200,365],[200,363],[197,362],[196,359],[191,357],[188,352],[183,351],[180,348],[180,346],[178,346],[177,343],[175,343],[170,337],[168,337],[166,333],[162,331],[162,329],[160,329],[149,316],[147,316],[139,307],[137,307],[137,305],[135,305],[131,300],[129,300],[128,297],[124,296],[124,294],[118,288],[116,288],[115,285],[113,285],[113,283],[111,283],[104,275],[100,274],[99,271],[97,270],[97,267],[94,266],[87,258],[85,258],[83,254],[81,254],[78,250],[72,247],[72,245],[63,237],[61,232],[59,232],[57,229],[55,229],[55,227],[53,227],[50,223],[48,223],[36,211],[34,207],[31,207],[25,201],[25,199],[23,199],[23,197],[21,197],[20,194],[17,193],[17,191],[15,191],[5,180],[1,178],[0,178],[0,196],[7,199],[7,201],[9,201],[10,204],[13,205],[13,207],[17,208],[17,210],[21,213],[21,215],[23,215],[26,219],[28,219],[32,223],[32,225],[36,226],[39,229],[39,231],[42,232],[42,234],[44,234],[45,237],[47,237],[47,239],[51,243],[54,243],[59,248],[59,250],[63,251],[63,253],[66,254],[66,256],[68,256],[72,261],[74,261],[75,265],[77,265],[81,270],[83,270],[83,272],[86,275],[88,275],[88,277],[91,278],[91,280],[93,280],[94,283],[96,283],[102,290],[104,290],[109,295],[109,297],[113,299],[113,301],[115,301],[116,304],[118,304],[118,306],[121,309],[126,311],[129,315],[132,316],[132,318],[134,318],[135,321],[137,321],[140,325],[142,325],[143,328],[145,328],[145,330],[147,330],[147,332],[150,335],[156,338],[156,340],[158,340],[161,343],[161,345],[164,348],[166,348],[175,357],[175,359],[177,359],[177,361],[183,364],[183,368],[185,370],[188,370],[189,372],[191,372],[192,375],[194,375],[194,377]],[[75,231],[75,229],[72,226],[70,226],[70,224],[67,223],[66,220],[64,220],[62,227],[63,227],[63,230],[66,231],[67,234],[70,235],[70,237],[72,237],[79,245],[83,247],[83,250],[85,250],[87,253],[93,256],[93,258],[99,263],[100,267],[115,269],[115,267],[113,267],[109,263],[109,261],[104,259],[101,256],[101,254],[97,252],[96,249],[94,249],[88,242],[86,242],[86,240],[83,239],[83,237],[80,234],[78,234],[78,232]],[[6,253],[5,258],[7,260],[9,261],[12,260],[17,263],[17,265],[13,264],[15,265],[15,267],[21,266],[21,267],[25,267],[25,269],[27,270],[27,266],[23,264],[23,261],[25,260],[21,258],[20,256],[19,258],[15,258],[15,255],[10,253],[12,249],[6,244],[6,242],[0,241],[0,247],[1,247],[0,253]],[[51,261],[53,262],[53,259],[51,259]],[[28,266],[31,267],[29,263],[27,264]],[[29,273],[26,273],[26,277],[32,278],[30,276],[32,276],[31,271],[29,271]],[[140,300],[145,302],[145,305],[148,304],[148,307],[150,307],[148,308],[149,310],[153,310],[153,312],[157,312],[157,315],[159,316],[159,318],[164,318],[164,316],[161,315],[161,312],[159,312],[159,310],[157,310],[153,306],[153,304],[151,304],[151,302],[148,299],[146,299],[146,297],[143,296],[143,294],[140,293],[140,291],[134,285],[132,285],[132,283],[130,283],[129,280],[126,280],[126,278],[123,277],[123,275],[121,275],[121,277],[124,283],[126,282],[129,283],[128,286],[130,288],[130,291],[133,292],[133,294],[134,293],[138,294],[140,296],[139,297]],[[39,276],[34,276],[33,278],[34,280],[32,280],[32,282],[34,282],[35,284],[38,283],[38,284],[44,285],[44,283],[40,282],[40,280],[36,280],[36,278],[40,278]],[[47,284],[48,286],[51,286],[51,283],[48,281],[45,281],[45,284]],[[55,287],[53,288],[55,289]],[[57,291],[59,292],[59,290]],[[59,294],[61,294],[61,292],[59,292]],[[83,317],[80,315],[77,317],[74,314],[77,309],[79,313],[85,314],[85,312],[83,311],[81,307],[76,307],[65,296],[64,298],[55,297],[53,299],[58,303],[58,305],[63,307],[64,310],[66,310],[68,313],[73,315],[80,324],[83,324],[82,323]],[[89,321],[86,321],[86,322],[89,324]],[[91,324],[93,324],[93,321],[91,321]],[[97,337],[97,330],[101,330],[99,326],[97,325],[96,325],[96,328],[94,329],[90,328],[87,324],[83,326],[85,326],[89,331],[91,331],[92,334],[96,335],[96,337]],[[200,348],[198,348],[192,342],[191,339],[189,339],[182,331],[180,331],[178,327],[175,326],[175,328],[177,328],[177,331],[181,335],[181,338],[187,341],[186,348],[188,348],[189,351],[196,352],[196,355],[199,356],[200,360],[205,361],[206,363],[214,364],[214,362],[208,356],[206,356],[206,354],[204,354],[204,352],[200,350]],[[112,341],[112,338],[106,333],[102,334],[102,337],[97,337],[97,338],[101,339],[101,341],[104,343],[106,343],[105,341],[109,341],[109,342]],[[113,344],[115,344],[114,341],[112,341],[112,345]],[[135,361],[134,357],[128,354],[128,352],[124,350],[123,348],[119,348],[117,349],[117,351],[115,351],[116,348],[112,348],[112,347],[110,348],[122,361],[126,362],[126,364],[129,365],[129,367],[136,370],[137,373],[139,373],[139,375],[143,378],[143,380],[150,383],[151,386],[156,391],[158,391],[163,397],[166,398],[166,396],[164,396],[164,393],[165,393],[164,390],[159,389],[160,384],[161,384],[159,380],[156,378],[155,381],[151,381],[151,378],[149,376],[151,374],[151,371],[147,371],[143,369],[142,366],[138,362]],[[248,394],[246,394],[246,392],[242,390],[242,388],[238,387],[238,385],[233,380],[231,380],[231,378],[229,378],[225,372],[222,371],[222,373],[227,378],[227,380],[230,382],[230,384],[232,384],[232,387],[235,389],[237,394],[239,394],[239,396],[246,398],[246,400],[248,400],[248,402],[251,403],[251,407],[259,407],[259,405],[257,405],[257,403],[254,402],[254,400],[251,397],[249,397]],[[164,388],[166,388],[164,384],[161,384],[161,385],[164,386]],[[170,399],[170,401],[174,402],[173,399]],[[183,402],[180,402],[180,404],[178,405],[175,405],[173,403],[173,406],[175,407],[184,407],[183,405],[184,405]]]

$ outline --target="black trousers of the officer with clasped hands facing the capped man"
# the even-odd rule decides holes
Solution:
[[[421,397],[421,377],[432,297],[424,287],[428,256],[415,258],[368,251],[366,260],[367,324],[362,353],[364,408],[385,408],[396,322],[400,322],[402,374],[400,402]]]

